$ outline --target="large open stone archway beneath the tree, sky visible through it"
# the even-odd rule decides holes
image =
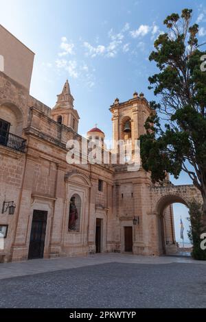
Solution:
[[[191,249],[185,247],[186,243],[189,246],[187,201],[180,195],[165,195],[157,202],[157,214],[160,252],[165,255],[190,256]],[[184,226],[182,235],[181,221]],[[184,239],[181,239],[182,236]]]

